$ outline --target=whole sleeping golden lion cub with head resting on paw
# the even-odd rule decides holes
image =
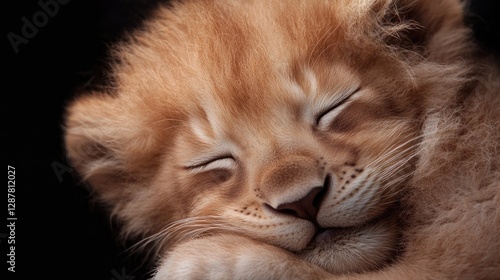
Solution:
[[[154,279],[500,277],[499,61],[462,9],[159,7],[68,106],[69,159]]]

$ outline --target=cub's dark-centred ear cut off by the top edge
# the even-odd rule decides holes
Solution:
[[[425,57],[452,58],[470,35],[460,0],[375,0],[370,14],[385,44]]]

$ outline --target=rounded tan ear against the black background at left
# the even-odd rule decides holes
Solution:
[[[108,204],[130,195],[148,176],[157,150],[144,110],[102,93],[72,101],[65,119],[65,149],[81,179]]]

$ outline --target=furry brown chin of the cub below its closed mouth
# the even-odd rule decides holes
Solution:
[[[334,274],[364,272],[393,260],[400,237],[398,218],[388,212],[361,226],[322,230],[298,256]]]

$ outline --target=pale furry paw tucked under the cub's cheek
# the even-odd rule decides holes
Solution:
[[[160,262],[153,280],[326,279],[321,268],[245,237],[218,235],[182,243]]]

